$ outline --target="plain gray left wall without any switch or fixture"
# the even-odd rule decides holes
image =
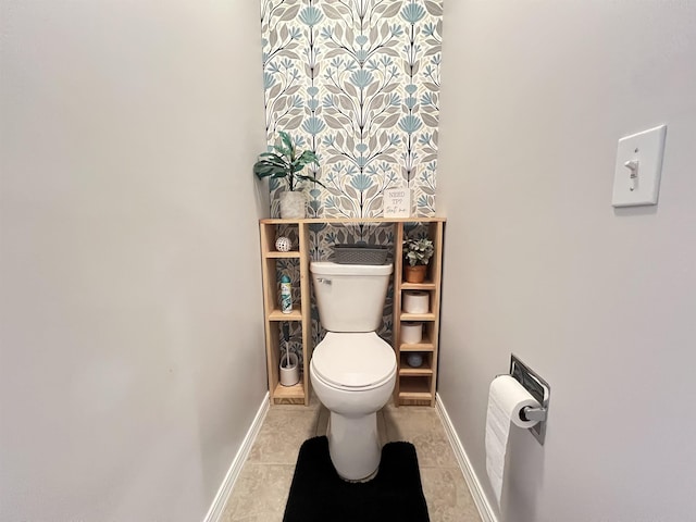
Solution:
[[[0,520],[202,520],[266,388],[259,5],[1,5]]]

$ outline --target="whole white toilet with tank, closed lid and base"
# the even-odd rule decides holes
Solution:
[[[376,412],[396,383],[396,356],[375,330],[393,265],[312,262],[310,272],[326,336],[310,361],[310,380],[331,412],[328,451],[338,475],[366,481],[380,467]]]

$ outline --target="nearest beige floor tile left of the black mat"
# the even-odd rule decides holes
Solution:
[[[295,465],[245,463],[222,522],[282,522]]]

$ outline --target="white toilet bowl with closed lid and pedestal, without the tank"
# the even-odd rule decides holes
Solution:
[[[314,349],[310,378],[330,410],[328,451],[339,476],[364,481],[380,467],[376,412],[396,383],[396,357],[376,333],[328,332]]]

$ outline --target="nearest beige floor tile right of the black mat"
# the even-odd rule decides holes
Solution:
[[[481,522],[459,468],[421,468],[421,482],[433,522]]]

